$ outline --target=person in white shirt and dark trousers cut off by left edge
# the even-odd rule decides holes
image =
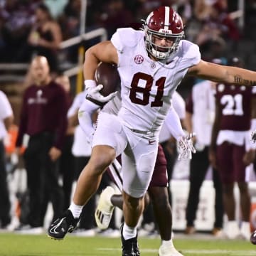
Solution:
[[[0,91],[0,228],[6,229],[11,223],[11,203],[9,188],[6,180],[6,154],[4,149],[4,138],[7,130],[14,122],[14,114],[8,98]]]

